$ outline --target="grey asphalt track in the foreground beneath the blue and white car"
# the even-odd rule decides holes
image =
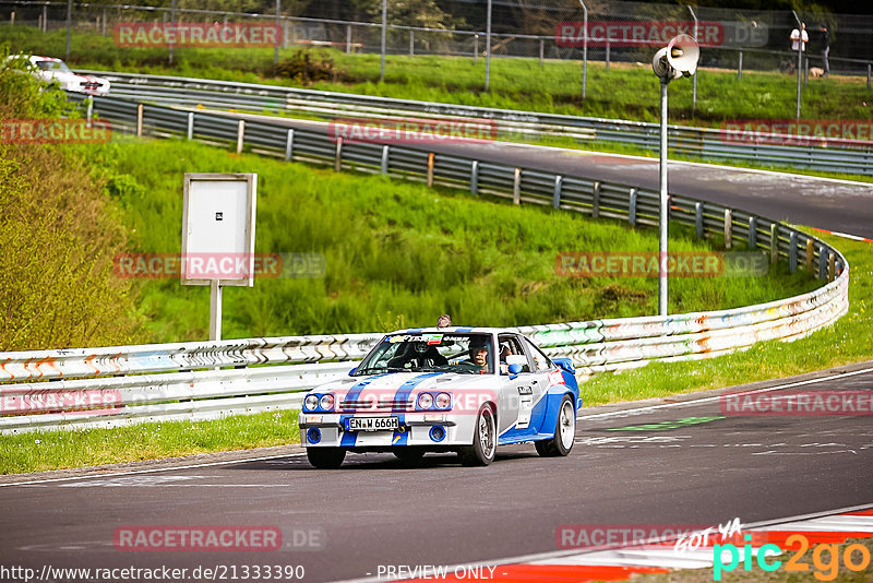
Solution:
[[[812,382],[789,389],[873,397],[873,361],[743,389],[772,396],[799,380]],[[517,445],[486,468],[461,467],[454,455],[429,454],[416,467],[350,454],[342,469],[316,471],[289,453],[29,483],[10,476],[25,483],[0,486],[0,564],[303,566],[304,581],[368,579],[380,566],[493,567],[554,554],[555,530],[567,524],[750,524],[873,502],[869,416],[738,416],[722,411],[723,398],[714,391],[583,409],[567,457]],[[113,547],[117,528],[143,525],[272,526],[292,548]]]

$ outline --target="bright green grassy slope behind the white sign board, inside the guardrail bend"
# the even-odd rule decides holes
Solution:
[[[226,287],[224,337],[372,332],[456,323],[511,326],[657,312],[657,278],[564,277],[564,251],[657,251],[657,231],[515,206],[382,176],[335,174],[179,140],[82,147],[122,210],[129,252],[178,253],[184,172],[256,172],[255,251],[319,253],[325,273]],[[671,251],[713,251],[671,229]],[[821,285],[777,265],[766,277],[682,277],[672,312],[726,309]],[[154,342],[207,337],[208,289],[140,279]]]

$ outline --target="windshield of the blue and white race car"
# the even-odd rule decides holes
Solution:
[[[494,372],[488,334],[388,334],[355,371],[356,377],[384,372]]]

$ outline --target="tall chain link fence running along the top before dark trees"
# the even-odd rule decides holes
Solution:
[[[275,0],[139,0],[131,4],[72,2],[71,28],[111,36],[119,23],[275,22]],[[223,10],[216,9],[220,5]],[[380,0],[279,0],[284,48],[330,46],[383,52]],[[387,0],[384,55],[528,58],[545,61],[648,63],[655,48],[680,32],[703,47],[699,67],[794,74],[865,75],[873,68],[873,15],[692,8],[618,0]],[[490,17],[489,17],[490,8]],[[55,31],[67,27],[67,2],[0,0],[0,23]],[[490,50],[487,28],[491,23]],[[587,23],[587,26],[586,26]],[[802,23],[802,24],[801,24]],[[802,58],[792,31],[805,25]],[[75,47],[71,47],[75,53]],[[169,52],[169,50],[168,50]],[[487,84],[487,82],[486,82]]]

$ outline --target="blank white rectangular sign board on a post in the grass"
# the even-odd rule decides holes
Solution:
[[[254,284],[256,174],[186,174],[182,284]]]

